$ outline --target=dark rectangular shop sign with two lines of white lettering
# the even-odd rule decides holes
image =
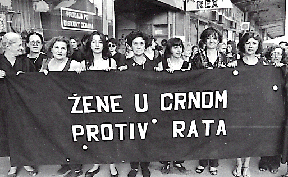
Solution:
[[[70,8],[61,8],[61,27],[69,30],[93,31],[96,14]]]

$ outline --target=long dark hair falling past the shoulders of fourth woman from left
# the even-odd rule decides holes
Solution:
[[[91,42],[93,40],[93,36],[98,35],[100,36],[100,39],[102,40],[103,43],[103,50],[102,50],[102,57],[103,59],[108,59],[110,57],[110,52],[109,52],[109,47],[108,47],[108,41],[106,40],[106,36],[99,32],[99,31],[94,31],[91,33],[88,37],[88,41],[86,42],[85,45],[85,53],[86,53],[86,62],[88,66],[93,65],[94,63],[94,56],[93,56],[93,51],[91,50]]]

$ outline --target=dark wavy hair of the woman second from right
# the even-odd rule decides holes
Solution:
[[[256,34],[256,33],[253,33],[253,32],[245,33],[241,37],[241,39],[239,40],[239,44],[238,44],[239,51],[242,52],[243,54],[245,53],[245,43],[251,38],[253,38],[253,39],[255,39],[255,40],[257,40],[259,42],[256,54],[261,54],[262,50],[263,50],[263,48],[262,48],[262,39],[260,38],[259,34]]]

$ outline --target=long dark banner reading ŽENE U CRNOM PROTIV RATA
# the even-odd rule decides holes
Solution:
[[[282,152],[281,69],[8,76],[12,165],[225,159]]]

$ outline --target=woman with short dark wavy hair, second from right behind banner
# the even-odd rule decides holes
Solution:
[[[238,61],[238,66],[267,65],[264,58],[261,58],[262,39],[255,33],[245,33],[239,41],[239,51],[243,54]],[[243,163],[242,163],[243,159]],[[237,158],[236,168],[233,175],[236,177],[250,177],[250,157]]]

